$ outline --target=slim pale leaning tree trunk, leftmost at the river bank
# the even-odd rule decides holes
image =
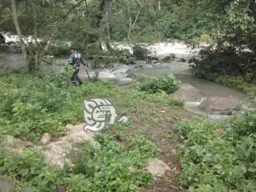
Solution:
[[[24,41],[22,39],[22,35],[21,35],[21,30],[20,30],[20,26],[19,26],[19,22],[18,22],[18,16],[17,16],[17,10],[16,10],[16,5],[15,5],[15,0],[10,0],[11,4],[12,4],[12,11],[13,11],[13,21],[14,21],[14,25],[17,31],[17,35],[19,38],[19,44],[21,47],[21,51],[23,53],[24,59],[26,61],[26,63],[29,63],[29,59],[28,59],[28,53],[24,44]]]

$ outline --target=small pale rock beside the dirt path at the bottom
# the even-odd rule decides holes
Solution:
[[[166,165],[163,161],[152,158],[147,162],[146,170],[150,172],[154,177],[163,177],[165,171],[171,170],[168,165]]]

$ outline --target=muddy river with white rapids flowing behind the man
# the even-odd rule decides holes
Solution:
[[[119,44],[121,48],[128,48],[129,46]],[[198,90],[204,92],[206,97],[209,96],[219,96],[219,97],[228,97],[236,96],[243,101],[247,98],[246,94],[243,94],[235,88],[226,87],[212,81],[207,81],[205,79],[199,79],[192,76],[189,71],[189,64],[187,62],[179,62],[180,58],[188,59],[190,58],[189,49],[181,43],[159,43],[151,47],[151,56],[156,56],[159,59],[164,58],[169,54],[175,54],[176,58],[173,62],[159,62],[154,63],[152,61],[150,64],[145,64],[144,61],[135,60],[137,64],[135,65],[123,65],[119,63],[113,63],[113,68],[111,69],[91,69],[90,61],[88,67],[89,76],[92,77],[95,71],[99,72],[99,79],[109,79],[115,82],[115,85],[121,85],[131,82],[133,77],[136,77],[140,74],[145,74],[149,76],[165,76],[166,72],[170,70],[172,74],[176,77],[177,80],[182,83],[189,83]],[[132,51],[131,51],[132,52]],[[57,57],[54,59],[55,63],[63,62],[64,57]],[[18,70],[20,67],[26,66],[22,54],[8,54],[0,53],[0,68],[8,67],[12,70]],[[54,65],[53,70],[59,71],[62,69],[60,65]],[[83,80],[87,80],[87,73],[83,67],[80,68],[79,76]],[[123,86],[124,88],[131,87],[132,84]],[[200,102],[186,102],[186,107],[195,111],[202,111],[198,106]]]

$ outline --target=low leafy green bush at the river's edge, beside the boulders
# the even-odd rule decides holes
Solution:
[[[136,88],[137,90],[148,91],[150,93],[165,91],[167,94],[171,94],[177,90],[178,83],[170,75],[168,78],[141,76],[136,83]]]

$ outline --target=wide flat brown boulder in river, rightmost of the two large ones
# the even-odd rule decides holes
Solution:
[[[240,101],[235,96],[229,96],[229,97],[213,96],[202,101],[199,107],[202,109],[209,109],[213,111],[230,111],[230,110],[234,110],[236,106],[238,106],[239,104],[240,104]]]

